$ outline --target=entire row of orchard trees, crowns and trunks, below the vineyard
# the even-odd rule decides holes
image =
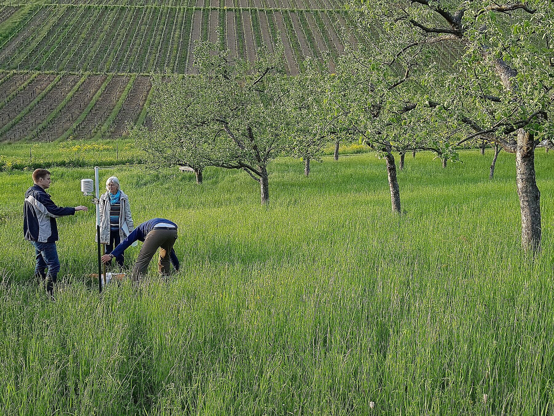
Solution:
[[[360,141],[386,164],[392,211],[401,213],[397,165],[407,153],[447,161],[460,148],[515,154],[522,247],[540,250],[535,149],[554,147],[554,5],[550,0],[351,0],[355,47],[306,57],[287,75],[283,48],[255,62],[217,44],[194,49],[193,75],[158,74],[149,126],[132,131],[155,166],[240,169],[269,201],[270,162],[321,161],[322,149]],[[346,31],[342,34],[350,45]],[[332,71],[329,68],[332,68]],[[396,160],[394,154],[398,155]]]

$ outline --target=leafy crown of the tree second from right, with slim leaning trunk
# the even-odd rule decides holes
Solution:
[[[432,150],[456,159],[459,133],[445,135],[455,119],[445,113],[436,95],[413,74],[399,73],[367,45],[349,49],[336,60],[327,97],[334,123],[384,155],[391,151]],[[407,64],[409,67],[409,63]]]

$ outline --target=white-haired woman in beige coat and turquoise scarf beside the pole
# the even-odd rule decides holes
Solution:
[[[131,234],[133,228],[129,197],[120,189],[117,177],[111,176],[106,181],[106,193],[100,196],[100,242],[106,245],[106,254]],[[123,267],[123,253],[115,261]]]

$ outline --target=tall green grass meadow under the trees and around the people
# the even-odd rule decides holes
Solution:
[[[382,160],[119,177],[135,222],[179,225],[182,269],[140,290],[94,272],[94,212],[58,221],[57,302],[28,282],[30,173],[0,174],[0,414],[547,415],[554,412],[552,157],[537,152],[543,250],[520,251],[514,156],[418,154],[391,214]],[[88,204],[54,168],[60,205]],[[82,214],[82,215],[79,215]],[[132,265],[137,248],[126,262]],[[153,266],[153,265],[152,265]],[[2,280],[2,279],[0,279]],[[373,407],[370,406],[373,402]]]

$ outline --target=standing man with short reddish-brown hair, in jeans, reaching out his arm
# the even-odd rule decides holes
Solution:
[[[35,248],[37,263],[35,277],[38,281],[46,281],[46,291],[54,300],[54,284],[58,280],[60,261],[56,250],[58,241],[57,217],[74,215],[75,211],[88,211],[86,206],[59,207],[47,194],[46,190],[52,184],[50,172],[46,169],[37,169],[33,172],[34,185],[25,192],[23,205],[23,232],[25,240]],[[45,270],[48,268],[48,273]]]

